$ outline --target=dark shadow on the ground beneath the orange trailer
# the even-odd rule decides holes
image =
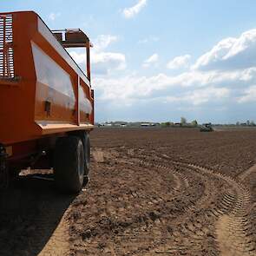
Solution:
[[[75,196],[59,194],[51,174],[19,177],[0,194],[0,255],[43,250]]]

